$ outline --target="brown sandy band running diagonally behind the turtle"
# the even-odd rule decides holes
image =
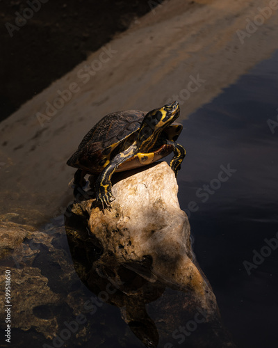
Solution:
[[[270,57],[278,48],[278,1],[277,10],[270,3],[165,1],[24,104],[0,124],[1,212],[62,211],[74,173],[65,162],[106,113],[179,100],[185,119]]]

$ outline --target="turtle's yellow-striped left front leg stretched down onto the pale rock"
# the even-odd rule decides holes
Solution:
[[[112,183],[111,177],[118,166],[121,163],[126,161],[136,155],[138,152],[138,148],[136,144],[131,145],[128,149],[120,154],[116,155],[109,164],[104,168],[104,171],[101,172],[96,182],[96,200],[92,203],[92,207],[96,207],[99,203],[101,203],[102,208],[105,207],[111,208],[111,201],[115,200],[112,194]]]

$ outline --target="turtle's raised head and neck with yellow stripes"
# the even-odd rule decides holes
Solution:
[[[179,112],[178,102],[166,104],[160,109],[149,111],[142,120],[138,132],[140,150],[147,152],[149,148],[152,148],[163,129],[179,117]]]

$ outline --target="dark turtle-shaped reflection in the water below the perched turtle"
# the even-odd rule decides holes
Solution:
[[[155,301],[161,296],[165,286],[157,283],[154,286],[146,279],[152,276],[145,271],[148,260],[143,260],[142,264],[138,264],[138,273],[144,272],[144,277],[132,270],[135,267],[134,264],[131,267],[128,264],[119,264],[117,274],[115,274],[115,269],[109,267],[111,266],[110,260],[107,260],[107,264],[105,261],[99,264],[103,248],[94,235],[88,235],[88,228],[85,227],[86,221],[72,212],[67,215],[70,218],[66,216],[65,228],[76,273],[88,289],[97,295],[96,299],[85,302],[85,310],[94,314],[101,302],[121,308],[122,317],[129,324],[133,333],[147,347],[156,347],[158,332],[154,321],[147,314],[145,303]],[[80,228],[82,225],[83,229]],[[116,264],[114,267],[116,268]]]

